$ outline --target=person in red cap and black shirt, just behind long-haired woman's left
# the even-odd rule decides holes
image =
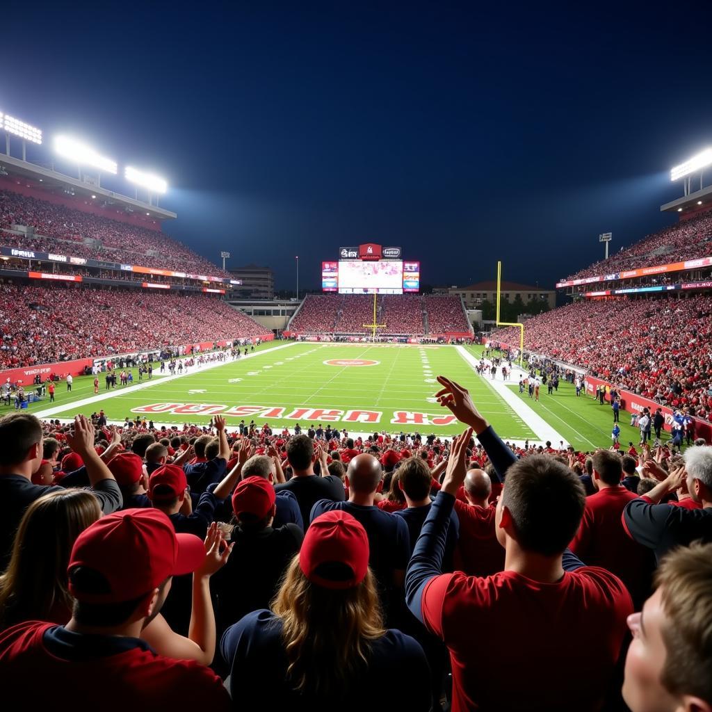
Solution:
[[[228,564],[212,580],[217,595],[218,631],[245,614],[269,607],[284,570],[299,551],[304,535],[296,524],[273,528],[276,494],[272,483],[252,476],[235,488],[236,526]],[[249,581],[249,585],[245,582]]]

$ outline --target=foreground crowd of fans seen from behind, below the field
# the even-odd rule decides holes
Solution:
[[[712,709],[712,448],[512,449],[439,384],[451,442],[0,419],[6,702]]]

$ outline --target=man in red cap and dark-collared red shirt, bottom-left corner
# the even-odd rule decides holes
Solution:
[[[224,554],[226,557],[227,554]],[[140,639],[174,575],[205,562],[201,540],[174,533],[166,515],[133,509],[101,518],[75,541],[68,566],[75,597],[66,626],[26,622],[0,634],[3,698],[9,705],[94,711],[182,708],[200,699],[228,710],[220,679],[194,661],[161,656]],[[42,671],[42,684],[28,681]],[[107,681],[115,684],[107,688]]]

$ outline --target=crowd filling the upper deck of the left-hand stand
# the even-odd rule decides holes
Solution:
[[[11,232],[30,226],[33,234]],[[0,191],[0,245],[109,262],[228,277],[219,266],[157,230],[7,190]],[[85,244],[85,240],[90,240]],[[91,242],[95,241],[95,242]]]

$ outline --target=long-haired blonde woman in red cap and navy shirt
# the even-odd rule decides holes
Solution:
[[[247,614],[222,639],[244,709],[429,711],[425,655],[384,628],[368,561],[368,536],[350,514],[313,520],[272,611]]]

